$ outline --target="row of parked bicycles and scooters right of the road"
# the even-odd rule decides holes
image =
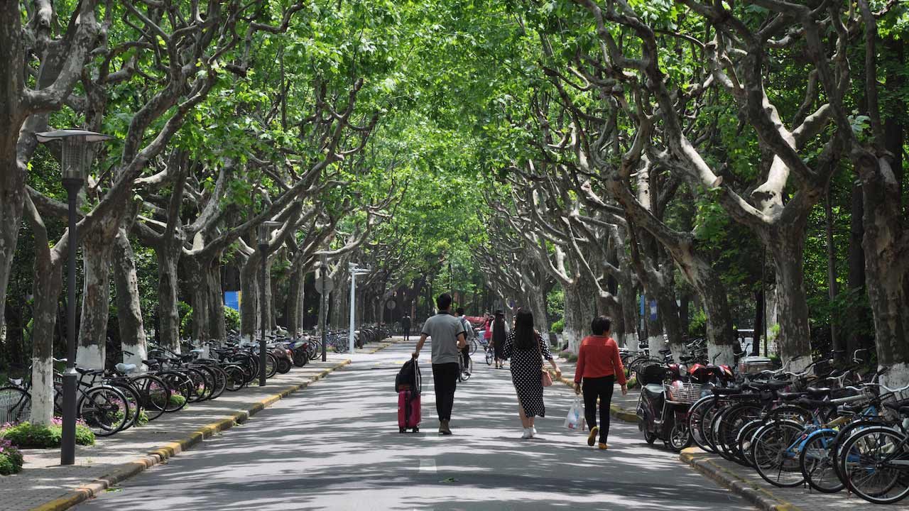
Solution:
[[[862,351],[851,366],[824,358],[798,373],[763,357],[737,370],[633,358],[639,427],[649,444],[694,444],[774,486],[898,502],[909,496],[909,386],[883,385],[887,370],[865,370]]]

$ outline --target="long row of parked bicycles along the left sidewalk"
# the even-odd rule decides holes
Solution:
[[[365,329],[359,338],[373,342],[385,336],[383,330]],[[341,333],[329,336],[329,343],[334,339],[337,349],[341,337]],[[288,373],[293,366],[305,366],[321,355],[322,344],[318,336],[266,339],[264,362],[259,356],[259,342],[244,342],[234,332],[221,343],[213,341],[193,346],[186,342],[181,350],[183,353],[165,346],[149,345],[142,367],[124,363],[107,369],[76,367],[77,417],[96,436],[112,436],[180,411],[188,403],[217,399],[225,392],[237,392],[254,385],[263,363],[265,377],[271,378]],[[135,354],[123,351],[118,358],[122,356],[135,357]],[[66,360],[55,359],[55,362],[65,363]],[[30,419],[31,390],[31,382],[26,379],[11,378],[9,385],[0,387],[0,424]],[[55,416],[63,415],[62,396],[63,376],[55,372]]]

